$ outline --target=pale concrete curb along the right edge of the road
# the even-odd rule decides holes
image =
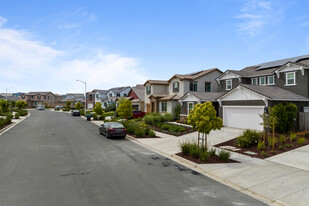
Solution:
[[[92,122],[92,123],[95,124],[94,122]],[[97,125],[97,124],[95,124],[95,125]],[[130,136],[128,134],[126,135],[126,139],[128,139],[131,142],[134,142],[136,144],[139,144],[139,145],[141,145],[141,146],[143,146],[145,148],[148,148],[148,149],[150,149],[150,150],[152,150],[152,151],[154,151],[154,152],[156,152],[156,153],[158,153],[158,154],[160,154],[160,155],[162,155],[162,156],[164,156],[166,158],[169,158],[169,159],[171,159],[171,160],[173,160],[173,161],[175,161],[175,162],[177,162],[179,164],[182,164],[182,165],[184,165],[184,166],[186,166],[186,167],[188,167],[188,168],[190,168],[190,169],[192,169],[192,170],[194,170],[196,172],[199,172],[199,173],[201,173],[201,174],[203,174],[203,175],[205,175],[205,176],[207,176],[207,177],[209,177],[209,178],[211,178],[211,179],[213,179],[213,180],[215,180],[217,182],[220,182],[220,183],[222,183],[222,184],[232,188],[232,189],[235,189],[235,190],[237,190],[237,191],[239,191],[239,192],[241,192],[243,194],[246,194],[246,195],[248,195],[250,197],[253,197],[254,199],[257,199],[257,200],[259,200],[259,201],[261,201],[263,203],[266,203],[268,205],[273,205],[273,206],[283,206],[283,204],[281,204],[281,203],[279,203],[279,202],[277,202],[275,200],[267,198],[267,197],[265,197],[263,195],[255,193],[255,192],[253,192],[253,191],[251,191],[251,190],[249,190],[247,188],[241,187],[241,186],[236,185],[236,184],[234,184],[232,182],[229,182],[229,181],[227,181],[227,180],[225,180],[225,179],[223,179],[221,177],[218,177],[218,176],[212,174],[211,172],[204,170],[198,164],[193,163],[193,162],[191,162],[191,161],[189,161],[187,159],[184,159],[184,158],[182,158],[180,156],[177,156],[175,154],[168,154],[168,153],[162,152],[160,150],[157,150],[156,148],[153,148],[153,147],[151,147],[149,145],[146,145],[146,144],[138,141],[137,138],[135,138],[133,136]],[[217,149],[220,149],[220,148],[217,148]]]

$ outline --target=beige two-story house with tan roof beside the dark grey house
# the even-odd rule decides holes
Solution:
[[[175,74],[168,81],[148,80],[146,86],[146,98],[148,95],[148,107],[151,112],[171,113],[175,114],[175,108],[181,101],[183,115],[187,116],[187,101],[189,99],[182,98],[188,96],[190,92],[210,92],[217,91],[218,84],[216,78],[222,72],[217,69],[207,69],[190,74]],[[153,109],[155,108],[155,109]],[[185,109],[184,109],[185,108]],[[147,110],[149,111],[149,110]]]

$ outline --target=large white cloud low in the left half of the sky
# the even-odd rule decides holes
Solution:
[[[86,81],[88,90],[132,86],[147,79],[137,58],[100,49],[87,50],[84,56],[73,53],[35,41],[28,32],[0,27],[0,90],[13,86],[25,92],[80,92],[76,79]]]

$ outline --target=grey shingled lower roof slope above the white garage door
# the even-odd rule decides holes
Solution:
[[[309,101],[309,98],[307,97],[277,86],[258,86],[250,84],[240,84],[240,86],[261,94],[271,100]]]

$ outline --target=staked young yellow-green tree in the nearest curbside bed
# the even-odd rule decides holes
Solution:
[[[217,112],[211,102],[194,105],[194,109],[188,116],[188,123],[202,134],[202,148],[204,145],[207,148],[207,135],[210,131],[220,130],[223,127],[223,121],[217,117]]]

